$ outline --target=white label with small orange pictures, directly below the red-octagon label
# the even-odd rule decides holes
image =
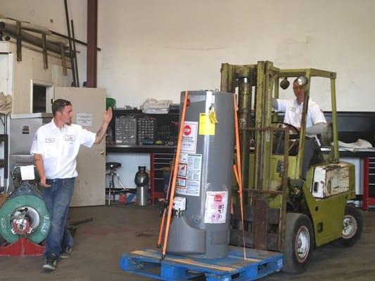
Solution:
[[[177,171],[176,193],[199,196],[201,190],[202,155],[181,153]]]

